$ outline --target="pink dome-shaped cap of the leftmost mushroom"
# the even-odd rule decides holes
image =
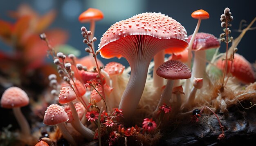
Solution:
[[[1,98],[3,108],[16,108],[29,104],[27,93],[19,87],[10,87],[6,89]]]

